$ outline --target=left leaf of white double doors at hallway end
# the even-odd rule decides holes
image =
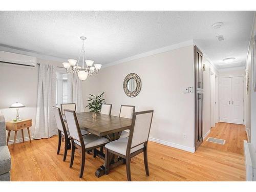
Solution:
[[[231,122],[231,78],[220,78],[220,121]]]

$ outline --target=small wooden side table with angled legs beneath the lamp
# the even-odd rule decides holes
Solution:
[[[24,142],[23,129],[26,129],[26,128],[28,129],[29,140],[31,142],[30,131],[29,131],[29,127],[31,127],[31,126],[32,126],[32,119],[23,119],[23,120],[16,121],[16,122],[7,121],[6,122],[6,130],[9,131],[8,132],[8,137],[7,137],[7,145],[9,143],[11,131],[15,131],[12,150],[14,150],[14,145],[15,145],[15,142],[16,142],[17,132],[19,130],[22,130],[22,139],[23,139],[23,142]]]

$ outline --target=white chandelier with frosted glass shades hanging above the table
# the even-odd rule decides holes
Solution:
[[[101,68],[100,64],[94,64],[93,60],[87,60],[86,50],[84,50],[84,40],[86,37],[81,36],[82,40],[82,50],[79,55],[78,61],[75,59],[68,59],[69,62],[62,62],[63,67],[66,69],[67,73],[76,73],[78,78],[82,81],[86,80],[88,75],[97,74]],[[78,66],[80,59],[82,59],[82,67]],[[86,62],[86,66],[84,66]]]

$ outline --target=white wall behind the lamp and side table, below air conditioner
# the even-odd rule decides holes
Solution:
[[[37,62],[61,66],[61,62],[40,58],[37,58]],[[16,118],[16,109],[9,109],[9,106],[16,101],[23,103],[26,108],[19,109],[19,116],[22,119],[32,119],[31,136],[34,133],[36,118],[38,69],[37,65],[36,67],[26,67],[0,62],[0,111],[7,121],[12,120]],[[27,131],[24,134],[25,137],[28,137]],[[13,137],[14,132],[11,132],[10,140],[13,140]],[[17,139],[20,138],[22,138],[22,134],[18,132]]]

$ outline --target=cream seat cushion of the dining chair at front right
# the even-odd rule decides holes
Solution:
[[[112,141],[108,144],[105,145],[106,148],[108,148],[109,150],[122,154],[122,155],[126,155],[126,148],[127,148],[127,143],[128,143],[128,137],[122,138],[122,139],[118,139],[115,141]],[[144,147],[144,144],[138,145],[134,148],[131,148],[131,153],[134,153],[138,150],[140,150],[141,148]]]

